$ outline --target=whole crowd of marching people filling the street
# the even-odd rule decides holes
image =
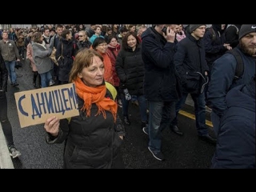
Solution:
[[[50,58],[54,50],[57,63]],[[241,57],[241,76],[230,50]],[[254,24],[44,25],[2,31],[0,51],[1,103],[8,76],[18,86],[14,66],[21,59],[30,63],[34,88],[74,82],[79,116],[48,118],[44,125],[48,143],[65,142],[64,168],[124,168],[120,147],[134,101],[148,150],[163,161],[161,131],[184,134],[178,112],[189,94],[198,139],[216,146],[211,168],[255,168]],[[208,133],[206,108],[215,137]],[[21,153],[2,110],[1,123],[16,158]]]

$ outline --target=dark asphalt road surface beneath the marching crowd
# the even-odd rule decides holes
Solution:
[[[63,144],[49,145],[43,125],[20,128],[14,93],[34,89],[30,66],[16,70],[20,86],[8,83],[8,115],[13,126],[14,143],[22,156],[12,159],[15,169],[62,169]],[[178,136],[170,130],[162,131],[162,152],[165,161],[155,159],[147,149],[148,136],[141,129],[138,106],[130,105],[131,125],[126,126],[126,138],[122,156],[127,169],[208,169],[215,147],[198,140],[192,118],[179,115],[178,126],[184,135]],[[122,116],[122,110],[119,110]],[[209,127],[213,135],[212,128]]]

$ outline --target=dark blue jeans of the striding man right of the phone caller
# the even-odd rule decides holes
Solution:
[[[170,123],[170,126],[177,126],[178,124],[178,111],[182,109],[182,106],[186,102],[187,93],[182,94],[182,98],[176,103],[176,117]],[[206,101],[205,94],[190,94],[194,102],[194,115],[195,124],[198,130],[198,135],[208,135],[208,128],[206,126]]]

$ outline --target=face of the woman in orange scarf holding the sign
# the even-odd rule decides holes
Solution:
[[[78,74],[78,78],[82,78],[86,86],[100,86],[103,82],[104,71],[102,60],[98,56],[94,56],[92,64],[83,68],[82,72]]]

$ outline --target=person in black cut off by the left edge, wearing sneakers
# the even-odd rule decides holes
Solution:
[[[7,81],[8,70],[6,69],[5,62],[3,61],[2,54],[0,53],[0,122],[2,125],[3,134],[6,137],[6,142],[10,156],[17,158],[21,153],[14,146],[14,138],[10,121],[7,117]]]

